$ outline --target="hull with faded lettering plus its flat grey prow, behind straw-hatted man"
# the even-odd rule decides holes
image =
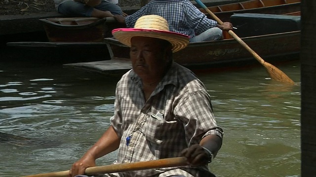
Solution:
[[[242,40],[267,62],[299,59],[300,31],[243,37]],[[113,39],[106,42],[111,49],[112,59],[69,63],[64,64],[64,67],[105,75],[122,75],[131,69],[129,48]],[[115,57],[114,54],[120,55]],[[173,59],[194,72],[218,72],[260,65],[235,39],[190,43],[185,49],[174,53]]]

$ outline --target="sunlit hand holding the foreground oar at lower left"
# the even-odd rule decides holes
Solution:
[[[84,175],[85,169],[88,167],[95,167],[95,159],[91,156],[83,156],[72,165],[71,169],[69,170],[69,177]]]

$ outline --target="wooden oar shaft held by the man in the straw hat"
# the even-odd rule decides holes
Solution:
[[[166,167],[180,167],[186,166],[187,160],[185,157],[165,158],[159,160],[151,160],[144,162],[133,162],[125,164],[115,164],[99,167],[89,167],[85,169],[85,175],[101,175],[116,172],[135,171],[135,170],[147,170],[153,168],[166,168]],[[37,175],[29,175],[24,177],[68,177],[69,170],[61,172],[51,172]]]

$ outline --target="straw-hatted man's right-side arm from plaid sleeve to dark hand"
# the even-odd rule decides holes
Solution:
[[[189,93],[175,109],[184,122],[188,148],[180,152],[191,166],[209,163],[222,146],[223,130],[217,126],[206,90]]]

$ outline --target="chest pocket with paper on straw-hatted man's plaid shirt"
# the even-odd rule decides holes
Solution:
[[[170,130],[175,130],[177,126],[177,120],[166,121],[163,117],[152,114],[147,118],[143,132],[146,140],[159,145],[172,136]]]

